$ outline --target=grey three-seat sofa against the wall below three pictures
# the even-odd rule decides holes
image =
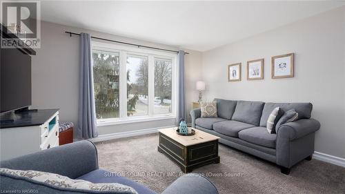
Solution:
[[[219,142],[250,153],[281,167],[284,174],[314,153],[315,131],[320,124],[311,119],[311,103],[264,103],[262,101],[233,101],[215,99],[218,117],[201,118],[200,108],[190,111],[192,126],[221,137]],[[266,123],[272,110],[279,106],[287,111],[295,109],[298,119],[277,126],[270,134]]]

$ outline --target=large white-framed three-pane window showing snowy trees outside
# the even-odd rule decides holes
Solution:
[[[93,42],[92,57],[98,124],[175,117],[175,53]]]

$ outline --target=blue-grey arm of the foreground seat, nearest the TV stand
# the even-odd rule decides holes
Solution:
[[[0,162],[1,168],[57,173],[75,179],[98,169],[97,148],[80,141]]]

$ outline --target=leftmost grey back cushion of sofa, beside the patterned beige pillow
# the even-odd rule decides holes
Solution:
[[[217,98],[215,101],[217,101],[218,117],[230,120],[235,112],[237,101]]]

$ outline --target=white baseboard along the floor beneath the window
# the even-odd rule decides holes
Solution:
[[[90,139],[92,142],[103,142],[111,139],[118,139],[122,137],[133,137],[138,135],[146,135],[150,133],[157,133],[157,131],[161,128],[170,128],[174,126],[164,126],[164,127],[156,127],[156,128],[146,128],[141,130],[130,130],[120,133],[110,133],[106,135],[99,135],[98,137]]]

